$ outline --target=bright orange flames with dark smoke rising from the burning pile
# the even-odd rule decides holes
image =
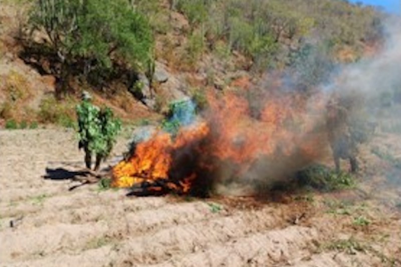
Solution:
[[[301,98],[276,97],[258,115],[236,94],[209,98],[206,120],[181,127],[175,137],[158,132],[138,143],[113,168],[112,185],[205,194],[215,182],[265,179],[279,165],[318,156],[315,122]]]

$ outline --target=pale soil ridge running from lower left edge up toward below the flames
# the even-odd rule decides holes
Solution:
[[[3,245],[5,246],[2,249],[2,257],[4,260],[10,261],[13,258],[20,259],[20,255],[21,257],[33,255],[37,251],[49,254],[63,248],[82,250],[88,242],[95,238],[139,235],[143,232],[150,233],[161,227],[220,216],[212,213],[204,202],[166,204],[160,209],[120,214],[114,214],[111,207],[110,210],[104,210],[104,212],[108,214],[108,217],[100,218],[97,222],[55,223],[40,227],[23,227],[24,224],[21,224],[17,228],[0,231],[0,240],[4,240]],[[47,236],[53,238],[49,240]],[[11,245],[13,243],[21,243],[21,246]]]

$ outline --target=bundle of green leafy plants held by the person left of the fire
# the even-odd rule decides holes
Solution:
[[[88,100],[77,105],[79,146],[106,158],[116,142],[121,122],[108,107],[99,108]]]

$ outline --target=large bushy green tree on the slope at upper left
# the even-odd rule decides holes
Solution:
[[[65,93],[74,73],[107,78],[113,64],[146,70],[153,60],[149,23],[126,0],[37,0],[30,16],[57,55],[57,93]]]

